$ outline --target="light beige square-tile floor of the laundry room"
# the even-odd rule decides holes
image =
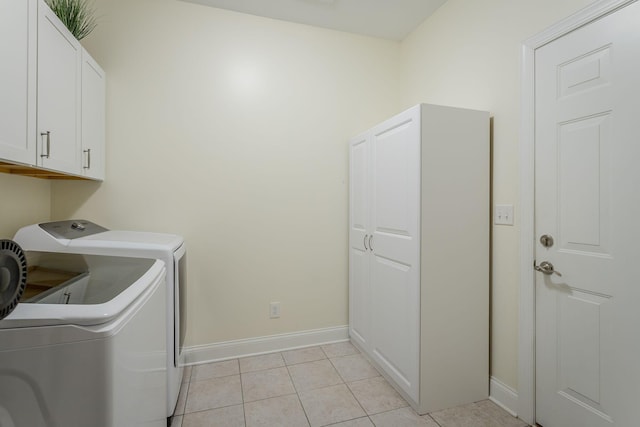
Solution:
[[[419,416],[349,342],[185,370],[171,427],[524,427],[485,400]]]

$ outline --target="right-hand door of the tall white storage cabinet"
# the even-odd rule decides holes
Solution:
[[[372,357],[419,401],[420,107],[371,136]]]

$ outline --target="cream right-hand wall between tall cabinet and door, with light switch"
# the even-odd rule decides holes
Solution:
[[[448,0],[401,45],[402,106],[418,102],[493,116],[493,203],[515,226],[493,229],[491,374],[517,387],[519,125],[522,42],[591,0]]]

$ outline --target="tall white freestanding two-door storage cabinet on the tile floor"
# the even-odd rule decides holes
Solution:
[[[421,414],[489,393],[489,133],[421,104],[350,141],[350,337]]]

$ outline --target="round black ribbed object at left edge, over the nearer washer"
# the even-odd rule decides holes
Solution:
[[[27,259],[13,240],[0,240],[0,319],[18,305],[27,283]]]

